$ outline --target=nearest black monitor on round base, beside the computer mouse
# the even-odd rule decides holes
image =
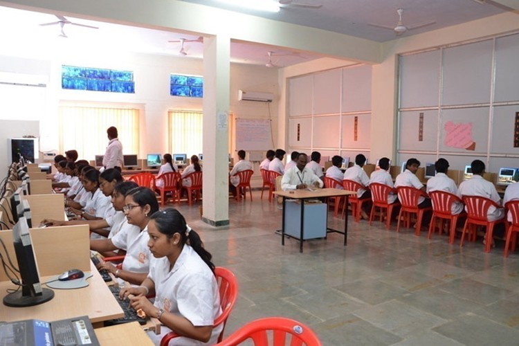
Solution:
[[[21,277],[21,291],[18,290],[3,297],[3,304],[8,307],[32,307],[54,298],[54,291],[42,288],[42,284],[39,282],[33,242],[30,239],[25,217],[20,217],[15,227],[12,228],[12,242],[15,246]]]

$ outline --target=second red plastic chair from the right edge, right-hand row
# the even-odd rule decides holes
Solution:
[[[465,238],[465,233],[467,230],[472,235],[472,241],[475,242],[477,232],[475,226],[485,226],[486,227],[486,235],[485,235],[485,252],[489,253],[492,249],[492,233],[494,230],[495,224],[500,224],[502,222],[506,222],[506,215],[502,217],[502,219],[489,221],[487,217],[487,212],[491,206],[495,208],[501,208],[498,203],[495,203],[491,199],[480,196],[463,196],[463,202],[466,206],[466,221],[463,226],[462,233],[462,242],[459,243],[459,246],[463,246],[463,240]]]

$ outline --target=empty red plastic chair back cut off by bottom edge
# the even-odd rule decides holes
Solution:
[[[268,331],[272,331],[271,338],[268,336]],[[217,343],[217,346],[235,346],[248,339],[251,339],[255,346],[322,345],[317,335],[301,322],[291,318],[268,317],[248,322],[224,341]],[[272,343],[268,342],[269,339],[272,340]],[[247,345],[249,344],[247,343]]]

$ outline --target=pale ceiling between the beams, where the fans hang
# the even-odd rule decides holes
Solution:
[[[510,10],[500,4],[507,0],[495,0],[500,3],[492,0],[486,0],[486,3],[484,0],[292,0],[291,5],[282,6],[280,12],[277,13],[240,10],[225,6],[218,0],[182,1],[320,28],[376,42],[386,42],[399,37],[437,30]],[[294,6],[295,3],[322,6],[305,8]],[[399,19],[398,8],[404,10],[402,21],[406,26],[425,21],[435,21],[435,23],[408,30],[400,36],[390,29],[370,25],[396,26]],[[58,48],[69,51],[84,48],[85,42],[90,42],[91,46],[118,51],[179,55],[181,44],[168,41],[178,41],[181,38],[196,40],[198,38],[198,36],[170,31],[109,24],[75,17],[66,17],[66,19],[76,24],[96,26],[99,29],[66,24],[64,33],[68,38],[58,37],[60,25],[39,25],[58,21],[59,19],[55,15],[0,7],[0,31],[3,33],[0,37],[0,46],[3,51],[9,51],[10,54],[27,57],[35,57],[35,51],[38,52],[38,57],[44,57],[55,54]],[[187,53],[186,57],[201,58],[203,44],[185,42],[184,51]],[[273,65],[280,67],[320,57],[318,53],[300,53],[287,48],[263,46],[251,42],[232,42],[231,61],[264,66],[268,62],[268,51],[273,52],[271,58]]]

